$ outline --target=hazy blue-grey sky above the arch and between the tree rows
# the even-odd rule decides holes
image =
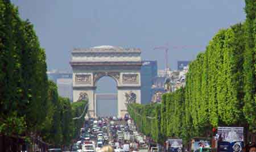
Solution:
[[[164,53],[154,47],[203,46],[171,49],[169,64],[192,60],[220,28],[243,22],[241,0],[13,0],[23,19],[34,24],[46,49],[48,70],[71,70],[73,48],[117,45],[141,48],[144,60],[164,67]]]

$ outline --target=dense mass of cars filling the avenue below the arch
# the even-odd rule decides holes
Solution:
[[[136,152],[147,149],[146,140],[131,119],[101,117],[85,121],[80,138],[73,143],[71,151],[101,152],[103,146],[110,145],[115,152]]]

